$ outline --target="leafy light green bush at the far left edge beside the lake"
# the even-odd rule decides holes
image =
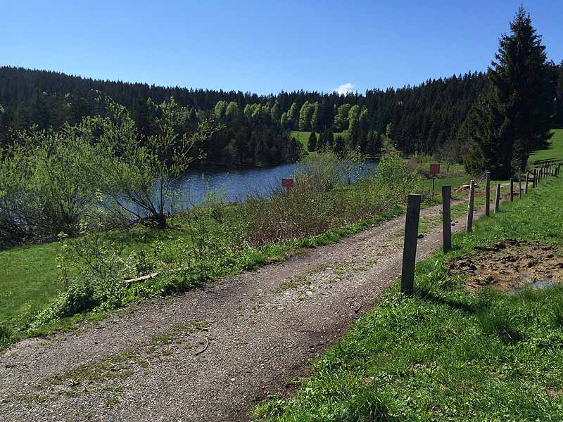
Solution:
[[[0,237],[5,243],[77,234],[99,182],[96,154],[75,128],[19,134],[0,162]]]

